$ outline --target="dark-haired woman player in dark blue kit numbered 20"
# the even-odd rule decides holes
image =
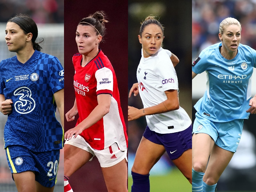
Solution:
[[[52,192],[63,141],[64,70],[56,57],[40,52],[37,26],[29,16],[8,20],[5,33],[8,50],[17,54],[0,63],[7,161],[19,192]]]

